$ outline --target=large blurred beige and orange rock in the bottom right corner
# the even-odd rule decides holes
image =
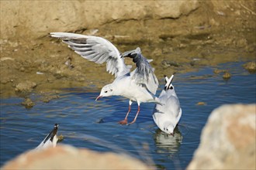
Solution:
[[[213,110],[187,169],[255,169],[256,104]]]

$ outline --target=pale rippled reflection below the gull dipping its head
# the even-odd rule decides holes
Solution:
[[[157,153],[168,153],[170,157],[175,155],[178,148],[182,144],[182,134],[178,131],[178,126],[175,128],[174,134],[166,134],[159,128],[154,134],[154,142],[157,146]]]

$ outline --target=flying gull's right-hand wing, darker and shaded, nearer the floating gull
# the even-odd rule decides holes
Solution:
[[[138,84],[145,84],[151,93],[155,94],[158,88],[158,80],[154,75],[154,69],[150,66],[148,60],[142,56],[140,48],[127,51],[122,54],[123,57],[133,58],[137,68],[131,73],[132,79]]]

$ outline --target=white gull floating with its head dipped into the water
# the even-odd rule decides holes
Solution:
[[[161,131],[167,134],[173,134],[173,131],[182,116],[182,108],[179,104],[178,97],[175,93],[175,87],[171,84],[173,75],[168,79],[164,76],[165,86],[161,91],[159,99],[161,104],[156,104],[154,107],[153,118],[155,124]]]

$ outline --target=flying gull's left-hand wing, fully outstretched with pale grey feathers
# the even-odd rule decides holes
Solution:
[[[130,67],[124,63],[119,50],[107,39],[68,32],[51,32],[50,36],[62,39],[85,59],[99,64],[106,62],[106,70],[112,75],[123,76],[130,73]]]

